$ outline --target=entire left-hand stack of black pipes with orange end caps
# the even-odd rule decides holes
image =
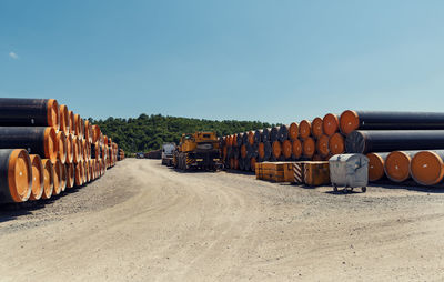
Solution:
[[[81,187],[113,167],[118,152],[98,125],[54,99],[0,98],[0,202]]]

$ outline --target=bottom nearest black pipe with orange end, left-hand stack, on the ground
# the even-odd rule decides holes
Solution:
[[[32,167],[23,149],[0,150],[0,202],[24,202],[31,195]]]

